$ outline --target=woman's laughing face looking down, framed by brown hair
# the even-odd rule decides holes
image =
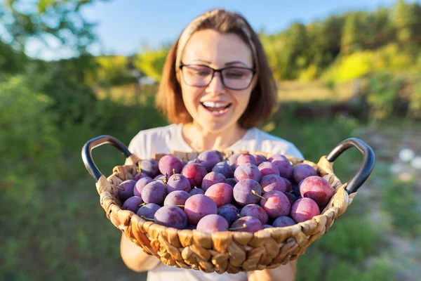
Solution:
[[[215,30],[195,32],[182,55],[184,65],[208,65],[214,69],[224,67],[253,67],[253,55],[246,43],[236,34],[220,34]],[[196,70],[192,70],[196,71]],[[224,131],[238,122],[246,110],[255,80],[242,90],[228,89],[222,84],[220,73],[213,76],[208,86],[189,86],[187,72],[179,72],[182,99],[187,111],[203,130],[211,133]],[[196,72],[195,72],[196,73]],[[203,75],[204,72],[197,72]],[[236,75],[235,72],[229,75]],[[227,79],[225,81],[227,83]],[[189,83],[191,84],[191,83]]]

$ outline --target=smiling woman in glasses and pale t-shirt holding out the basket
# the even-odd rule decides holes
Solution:
[[[185,28],[168,53],[156,107],[173,124],[140,131],[129,150],[141,159],[173,150],[260,150],[303,158],[295,145],[255,126],[276,105],[276,84],[258,39],[239,14],[215,9]],[[156,280],[294,280],[296,262],[270,270],[202,273],[163,265],[121,237],[128,268]]]

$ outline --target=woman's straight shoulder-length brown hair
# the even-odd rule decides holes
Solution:
[[[222,34],[237,34],[250,46],[253,53],[258,79],[251,92],[246,111],[241,115],[239,124],[243,128],[258,126],[271,117],[277,105],[276,81],[267,63],[262,43],[250,24],[238,13],[215,9],[194,19],[187,25],[178,40],[173,44],[163,66],[162,80],[156,96],[156,108],[161,110],[172,123],[192,122],[182,101],[181,87],[177,79],[182,51],[194,32],[215,30]]]

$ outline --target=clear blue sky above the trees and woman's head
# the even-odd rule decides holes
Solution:
[[[275,33],[285,30],[294,21],[306,24],[332,14],[370,11],[394,3],[395,0],[112,0],[95,1],[84,7],[82,13],[84,18],[98,25],[95,33],[99,42],[92,46],[92,53],[130,55],[140,51],[145,43],[156,47],[174,41],[193,18],[216,7],[241,13],[255,30]],[[54,46],[53,40],[50,41]],[[65,48],[45,48],[37,41],[29,43],[27,53],[46,60],[72,55]]]

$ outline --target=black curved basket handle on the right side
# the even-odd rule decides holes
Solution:
[[[360,186],[363,185],[368,176],[370,176],[371,171],[373,171],[375,163],[373,149],[371,149],[370,146],[361,141],[359,138],[347,138],[345,141],[339,143],[336,148],[334,148],[326,157],[328,162],[333,162],[336,158],[338,158],[339,155],[342,154],[342,152],[348,148],[351,148],[352,146],[358,148],[359,151],[363,153],[363,164],[361,164],[361,168],[356,173],[356,175],[348,182],[348,194],[356,192],[356,190],[358,190]]]

